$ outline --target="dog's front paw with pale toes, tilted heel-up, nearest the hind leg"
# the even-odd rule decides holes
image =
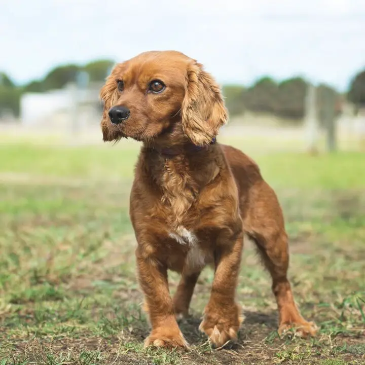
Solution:
[[[230,340],[237,340],[237,332],[242,322],[239,307],[234,304],[229,308],[209,306],[204,311],[199,330],[204,332],[215,347],[221,347]]]

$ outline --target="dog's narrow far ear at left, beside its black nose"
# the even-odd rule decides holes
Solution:
[[[110,129],[108,128],[110,123],[108,115],[109,109],[118,100],[117,85],[112,75],[107,77],[104,86],[100,90],[100,99],[103,103],[100,127],[103,134],[104,142],[112,141],[115,139],[113,133],[111,133]]]

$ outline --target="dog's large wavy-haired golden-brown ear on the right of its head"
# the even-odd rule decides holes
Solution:
[[[209,144],[218,129],[227,123],[228,113],[220,87],[194,61],[187,70],[185,97],[181,105],[181,123],[185,135],[196,145]]]

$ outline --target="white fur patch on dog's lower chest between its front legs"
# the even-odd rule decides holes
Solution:
[[[169,236],[177,244],[188,247],[183,269],[185,274],[196,273],[211,261],[211,255],[200,247],[198,237],[193,231],[178,226],[174,232],[169,233]]]

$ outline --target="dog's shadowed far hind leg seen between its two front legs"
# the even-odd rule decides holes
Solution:
[[[188,317],[191,298],[200,272],[193,274],[182,273],[176,293],[173,297],[173,308],[176,318]]]

